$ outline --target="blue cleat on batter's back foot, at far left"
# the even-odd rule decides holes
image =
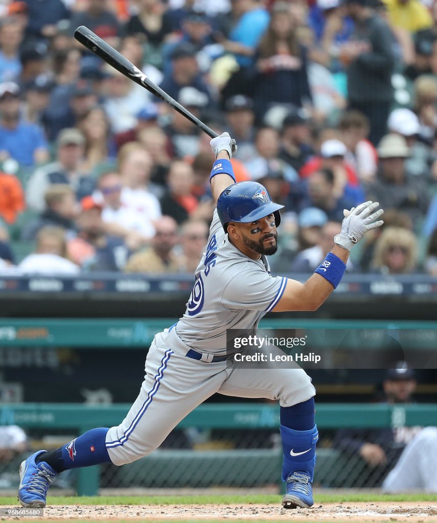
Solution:
[[[38,450],[20,465],[20,486],[18,501],[23,507],[45,507],[47,489],[53,483],[56,472],[41,461],[35,463],[35,458],[45,450]]]

